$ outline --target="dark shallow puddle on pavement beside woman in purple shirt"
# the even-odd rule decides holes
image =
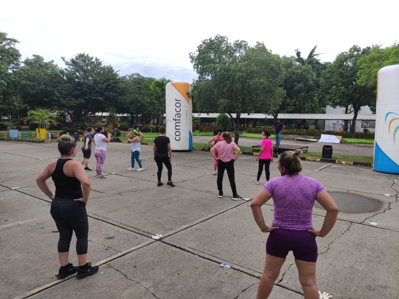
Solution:
[[[340,212],[345,213],[368,213],[376,212],[381,209],[383,203],[377,199],[366,197],[350,192],[328,192],[337,203]],[[318,203],[314,203],[315,208],[323,209]]]

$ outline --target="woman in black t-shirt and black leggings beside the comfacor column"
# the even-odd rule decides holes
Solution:
[[[161,182],[161,174],[162,167],[165,164],[168,169],[168,183],[166,185],[174,187],[174,183],[172,183],[172,165],[170,161],[172,160],[172,149],[170,148],[170,140],[169,137],[165,136],[166,128],[161,126],[159,128],[159,132],[161,133],[158,137],[154,139],[154,160],[156,165],[158,166],[158,187],[164,185]],[[169,153],[169,154],[168,154]]]

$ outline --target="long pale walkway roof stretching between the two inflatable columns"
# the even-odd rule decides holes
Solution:
[[[193,113],[195,117],[209,117],[209,118],[216,118],[219,116],[220,113]],[[232,113],[231,116],[235,117],[235,113]],[[241,113],[241,118],[257,118],[257,119],[273,119],[272,115],[269,114],[262,114],[262,113],[254,113],[254,114],[247,114]],[[316,120],[352,120],[353,114],[332,114],[332,113],[280,113],[279,118],[284,119],[316,119]],[[356,118],[358,120],[375,120],[375,114],[358,114]]]

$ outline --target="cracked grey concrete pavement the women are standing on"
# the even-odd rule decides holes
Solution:
[[[245,140],[240,138],[243,145]],[[348,154],[370,151],[367,146],[333,145],[334,152],[342,148]],[[58,233],[52,232],[49,199],[35,182],[45,165],[59,157],[57,144],[0,141],[0,298],[255,298],[267,234],[255,224],[249,201],[231,200],[227,177],[225,196],[217,197],[209,152],[175,152],[176,187],[156,187],[152,147],[142,146],[141,172],[127,171],[130,148],[107,145],[106,180],[87,172],[92,190],[89,261],[100,266],[99,273],[59,281]],[[81,158],[78,151],[75,160]],[[302,165],[302,174],[320,180],[340,208],[332,232],[317,239],[319,290],[332,299],[397,298],[399,176],[353,165]],[[89,167],[95,169],[94,157]],[[276,163],[270,169],[271,177],[279,175]],[[239,195],[252,199],[262,188],[255,185],[256,174],[255,158],[240,156],[235,163]],[[162,179],[166,181],[166,169]],[[48,183],[54,191],[51,179]],[[271,222],[272,201],[263,213]],[[321,227],[323,215],[316,204],[315,227]],[[156,234],[163,237],[154,240]],[[77,264],[74,238],[70,262]],[[222,262],[231,268],[221,267]],[[299,299],[301,292],[290,253],[271,298]]]

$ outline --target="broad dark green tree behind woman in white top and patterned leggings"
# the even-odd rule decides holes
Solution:
[[[65,87],[58,108],[73,112],[73,130],[88,115],[107,112],[110,107],[117,112],[125,109],[126,103],[120,100],[122,79],[111,65],[105,66],[85,53],[70,60],[61,58],[67,67],[61,69]]]

